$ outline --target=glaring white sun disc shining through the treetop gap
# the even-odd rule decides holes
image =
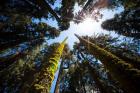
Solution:
[[[83,22],[79,23],[78,25],[78,29],[80,31],[80,33],[91,33],[93,32],[93,29],[95,28],[95,20],[88,17],[88,18],[85,18],[83,20]]]

